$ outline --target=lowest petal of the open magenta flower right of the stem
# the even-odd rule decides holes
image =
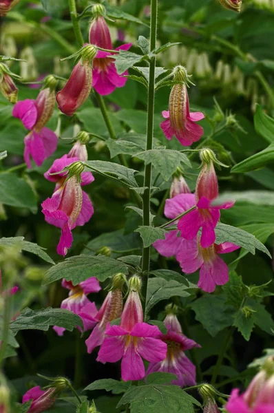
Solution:
[[[216,255],[211,262],[204,262],[200,269],[198,287],[207,293],[213,293],[215,286],[223,286],[229,282],[229,268],[225,262]]]

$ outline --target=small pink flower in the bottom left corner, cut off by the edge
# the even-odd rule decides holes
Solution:
[[[30,405],[28,413],[42,413],[45,410],[50,409],[56,400],[56,389],[49,388],[44,391],[39,386],[36,386],[23,395],[22,403],[26,403],[29,400],[33,400]]]

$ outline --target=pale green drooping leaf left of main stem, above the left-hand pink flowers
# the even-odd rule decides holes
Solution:
[[[94,172],[101,173],[107,178],[114,178],[119,180],[121,184],[125,184],[127,187],[138,187],[138,184],[134,178],[134,169],[124,167],[123,165],[116,164],[114,162],[106,162],[105,160],[87,160],[84,162]],[[86,169],[86,171],[90,169]]]

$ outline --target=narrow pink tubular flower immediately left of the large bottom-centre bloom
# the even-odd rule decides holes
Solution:
[[[87,308],[83,308],[83,312],[87,313],[87,310]],[[105,329],[107,327],[107,323],[118,319],[122,314],[122,310],[123,295],[120,288],[109,291],[107,297],[105,297],[102,307],[93,318],[94,322],[98,324],[92,331],[89,338],[85,341],[88,353],[91,353],[97,346],[101,346],[105,339]]]

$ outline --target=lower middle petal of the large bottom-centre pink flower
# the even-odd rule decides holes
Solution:
[[[134,342],[131,341],[122,359],[122,379],[123,381],[141,380],[143,377],[145,377],[144,363]]]

